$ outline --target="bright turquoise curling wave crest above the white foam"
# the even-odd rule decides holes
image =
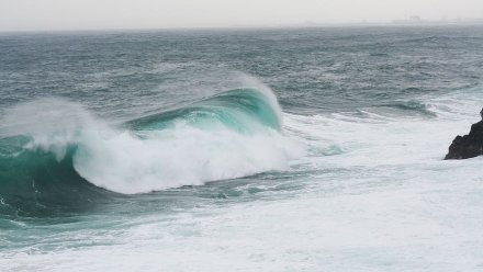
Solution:
[[[188,125],[202,129],[228,128],[243,134],[281,129],[280,110],[270,94],[256,89],[231,90],[187,107],[127,123],[135,131],[158,131]]]

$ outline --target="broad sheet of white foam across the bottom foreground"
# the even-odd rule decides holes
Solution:
[[[478,166],[464,170],[475,170]],[[422,170],[422,169],[419,169]],[[277,201],[216,204],[125,218],[106,230],[76,229],[57,241],[1,254],[7,271],[480,271],[480,181],[451,181],[458,167],[405,182],[317,191]],[[461,172],[457,173],[457,177]],[[369,177],[378,179],[378,177]],[[436,182],[438,181],[439,182]],[[321,184],[326,180],[314,180]],[[389,184],[389,185],[387,185]],[[481,190],[480,190],[481,192]],[[295,197],[294,197],[295,196]],[[103,222],[103,218],[99,218]],[[96,224],[90,222],[90,224]],[[76,226],[72,226],[76,227]],[[90,246],[86,241],[104,246]],[[82,247],[69,249],[76,241]],[[81,242],[83,241],[83,243]],[[56,243],[57,242],[57,243]],[[56,245],[61,245],[53,247]],[[66,249],[67,248],[67,249]],[[423,269],[422,269],[423,268]]]

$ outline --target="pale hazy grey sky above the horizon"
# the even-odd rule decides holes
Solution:
[[[483,0],[0,0],[0,31],[273,26],[483,18]]]

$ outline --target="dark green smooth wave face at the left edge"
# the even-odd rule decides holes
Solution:
[[[77,147],[60,161],[53,152],[24,149],[24,136],[0,139],[0,218],[47,216],[81,211],[110,193],[74,169]]]

